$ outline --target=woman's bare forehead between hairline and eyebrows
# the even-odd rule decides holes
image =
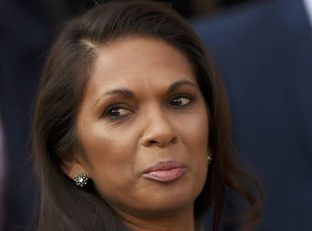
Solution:
[[[121,86],[136,91],[179,80],[196,83],[191,63],[180,50],[161,39],[129,37],[98,50],[88,85],[93,93]]]

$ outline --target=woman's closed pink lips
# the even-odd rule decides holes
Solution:
[[[171,182],[180,178],[187,171],[187,167],[177,161],[160,162],[157,165],[153,165],[144,171],[145,178],[160,181]]]

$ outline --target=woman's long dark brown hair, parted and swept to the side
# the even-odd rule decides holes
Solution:
[[[225,191],[245,198],[249,216],[245,230],[259,221],[261,200],[247,179],[257,181],[234,163],[229,109],[223,84],[205,47],[189,24],[168,6],[153,1],[117,1],[96,6],[64,25],[49,56],[40,82],[33,123],[35,169],[40,180],[38,230],[121,230],[122,223],[92,183],[81,189],[60,169],[62,156],[78,145],[76,118],[87,77],[98,48],[122,37],[154,37],[179,49],[193,66],[209,108],[209,147],[214,154],[205,186],[195,201],[195,219],[214,207],[213,230],[224,217]]]

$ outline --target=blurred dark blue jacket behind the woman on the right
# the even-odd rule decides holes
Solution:
[[[299,0],[194,23],[229,96],[234,141],[267,194],[259,230],[312,230],[312,33]]]

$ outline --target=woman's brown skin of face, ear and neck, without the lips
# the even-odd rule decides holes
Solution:
[[[194,230],[208,128],[188,59],[160,39],[119,39],[98,50],[78,112],[80,148],[63,170],[70,178],[78,172],[92,178],[131,230]],[[187,171],[170,183],[142,176],[168,160]]]

